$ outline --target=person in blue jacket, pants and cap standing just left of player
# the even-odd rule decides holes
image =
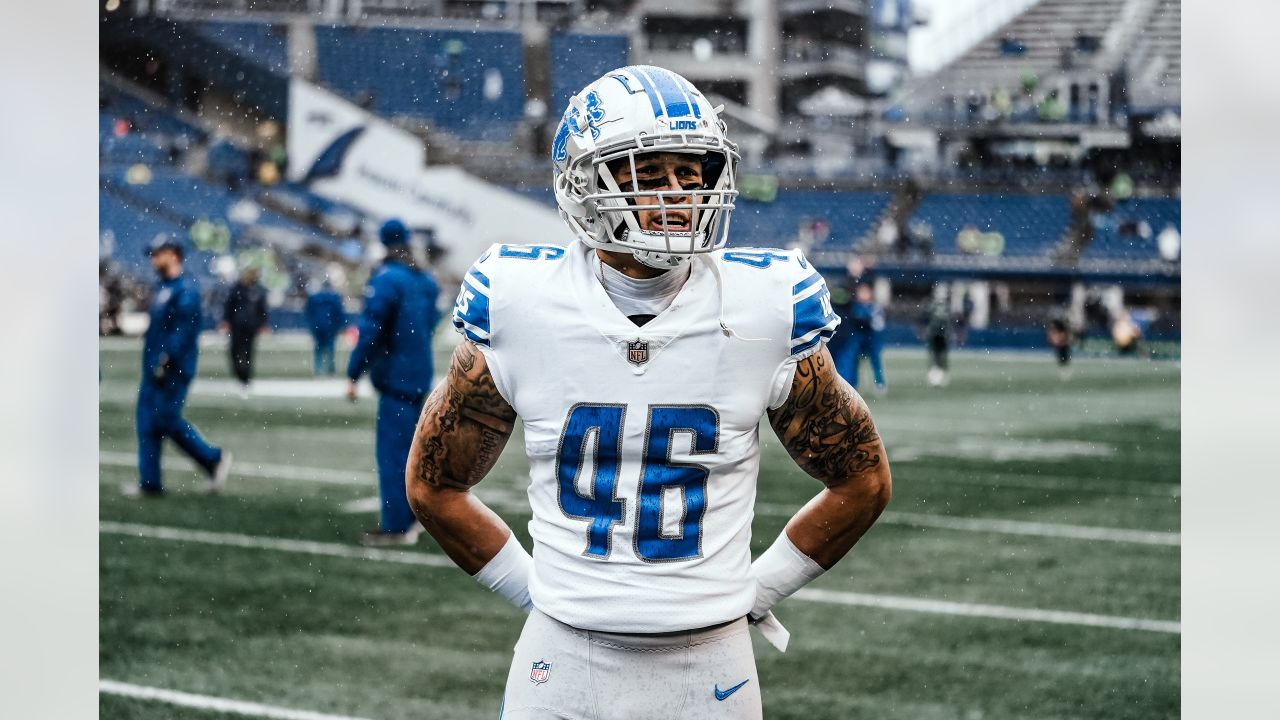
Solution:
[[[413,443],[413,428],[431,391],[431,334],[440,318],[439,287],[417,266],[410,251],[404,223],[387,220],[379,236],[387,259],[369,278],[360,341],[347,364],[347,398],[366,370],[378,391],[378,486],[381,518],[376,530],[364,534],[365,544],[412,544],[422,527],[404,496],[404,465]]]

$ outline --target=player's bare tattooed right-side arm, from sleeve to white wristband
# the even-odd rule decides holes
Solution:
[[[867,402],[836,374],[827,348],[796,365],[769,423],[792,460],[827,486],[787,523],[796,550],[823,570],[854,547],[892,495],[888,457]]]

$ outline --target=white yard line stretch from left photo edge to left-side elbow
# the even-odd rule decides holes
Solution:
[[[271,538],[264,536],[244,536],[239,533],[211,533],[207,530],[188,530],[187,528],[166,528],[163,525],[142,525],[137,523],[111,523],[106,520],[99,524],[99,532],[104,534],[195,542],[201,544],[219,544],[224,547],[274,550],[278,552],[325,555],[329,557],[348,557],[353,560],[376,560],[379,562],[399,562],[402,565],[425,565],[428,568],[456,566],[452,560],[442,555],[426,555],[424,552],[410,552],[406,550],[375,550],[371,547],[356,547],[337,542]]]

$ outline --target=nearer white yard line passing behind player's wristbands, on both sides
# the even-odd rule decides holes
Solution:
[[[229,547],[246,547],[256,550],[274,550],[280,552],[300,552],[306,555],[326,555],[332,557],[348,557],[357,560],[375,560],[380,562],[403,562],[408,565],[428,565],[433,568],[453,568],[453,561],[439,555],[426,555],[422,552],[371,550],[332,542],[293,541],[284,538],[269,538],[257,536],[243,536],[238,533],[209,533],[202,530],[188,530],[184,528],[165,528],[159,525],[141,525],[136,523],[100,523],[99,529],[106,534],[123,534],[152,539],[166,539],[179,542],[198,542],[206,544],[219,544]],[[1002,605],[982,605],[973,602],[948,602],[941,600],[925,600],[914,597],[899,597],[888,594],[867,594],[855,592],[820,591],[804,588],[794,594],[796,600],[809,602],[824,602],[829,605],[860,605],[867,607],[883,607],[887,610],[905,610],[910,612],[928,612],[933,615],[963,615],[969,618],[988,618],[995,620],[1018,620],[1028,623],[1055,623],[1060,625],[1080,625],[1089,628],[1112,628],[1119,630],[1151,630],[1158,633],[1180,634],[1180,624],[1175,620],[1151,620],[1146,618],[1123,618],[1115,615],[1092,615],[1087,612],[1069,612],[1064,610],[1038,610],[1033,607],[1007,607]]]

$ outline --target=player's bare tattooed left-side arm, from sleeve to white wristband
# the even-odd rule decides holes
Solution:
[[[484,355],[463,341],[422,406],[404,487],[426,532],[471,575],[511,538],[511,528],[470,491],[498,461],[515,420]]]

